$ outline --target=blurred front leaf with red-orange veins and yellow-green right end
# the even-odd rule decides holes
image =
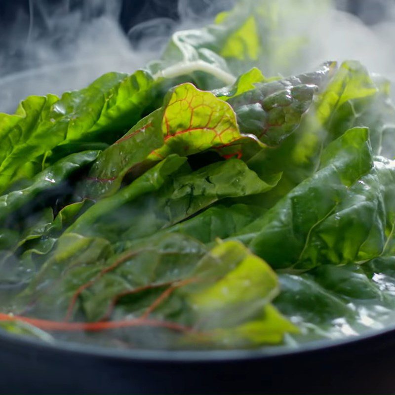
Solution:
[[[154,346],[154,323],[164,332],[155,347],[163,340],[167,348],[251,347],[298,333],[271,304],[278,291],[269,265],[237,241],[207,251],[193,238],[171,234],[114,256],[104,239],[69,234],[19,297],[18,308],[33,298],[29,314],[63,316],[66,332],[68,321],[81,315],[92,327],[128,317],[131,327],[141,322],[146,329],[118,329],[120,338],[132,336],[144,347]],[[36,322],[45,329],[50,321]]]

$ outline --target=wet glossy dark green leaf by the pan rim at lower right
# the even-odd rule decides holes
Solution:
[[[304,275],[280,274],[275,306],[292,316],[305,343],[339,339],[381,329],[393,322],[394,262],[378,258],[368,264],[322,265]]]

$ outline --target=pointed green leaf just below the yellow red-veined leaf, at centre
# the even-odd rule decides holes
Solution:
[[[185,160],[177,160],[178,165]],[[166,159],[165,159],[166,161]],[[161,163],[159,163],[160,166]],[[82,235],[110,240],[145,237],[168,228],[220,199],[263,193],[273,188],[264,183],[238,159],[220,161],[191,172],[187,166],[171,173],[162,184],[140,193],[140,185],[151,179],[149,170],[117,194],[104,198],[88,209],[69,229]],[[137,193],[136,191],[139,191]],[[130,221],[133,218],[133,221]]]

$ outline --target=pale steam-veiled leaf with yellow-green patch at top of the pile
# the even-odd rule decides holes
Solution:
[[[289,73],[292,63],[303,56],[307,40],[301,29],[293,26],[296,15],[303,13],[309,23],[327,8],[327,1],[239,0],[234,9],[219,14],[214,24],[176,32],[161,60],[152,62],[150,68],[167,76],[177,69],[174,65],[193,65],[215,77],[208,79],[210,84],[225,81],[224,73],[238,76],[253,66],[268,75]],[[295,31],[300,32],[296,37]],[[207,82],[206,75],[204,80]]]

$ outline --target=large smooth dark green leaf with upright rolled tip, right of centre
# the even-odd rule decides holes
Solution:
[[[309,269],[303,259],[312,232],[330,216],[350,188],[372,167],[369,132],[354,128],[330,144],[325,165],[240,233],[257,255],[275,268]]]

